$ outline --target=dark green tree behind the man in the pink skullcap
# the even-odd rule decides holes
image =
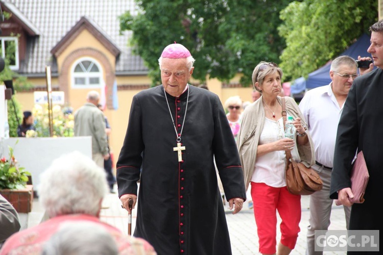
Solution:
[[[284,40],[278,35],[279,11],[292,1],[243,0],[136,1],[138,14],[120,17],[121,33],[132,31],[134,53],[150,69],[158,85],[158,57],[176,41],[196,59],[193,77],[206,75],[228,81],[242,72],[241,82],[251,85],[251,74],[261,61],[278,62]]]

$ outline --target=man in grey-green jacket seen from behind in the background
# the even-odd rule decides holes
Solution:
[[[100,94],[89,91],[87,103],[75,112],[75,136],[92,137],[92,158],[100,167],[104,168],[104,160],[109,159],[108,142],[105,133],[105,118],[97,107]]]

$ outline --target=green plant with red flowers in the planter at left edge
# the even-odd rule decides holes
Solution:
[[[16,141],[17,144],[18,140]],[[15,144],[15,145],[16,145]],[[0,189],[18,189],[26,186],[30,172],[25,171],[23,167],[17,166],[17,161],[13,155],[13,149],[9,147],[9,159],[2,157],[0,159]]]

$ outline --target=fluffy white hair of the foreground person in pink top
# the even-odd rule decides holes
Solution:
[[[107,187],[105,170],[74,151],[55,159],[41,174],[38,194],[51,218],[79,213],[98,216]]]

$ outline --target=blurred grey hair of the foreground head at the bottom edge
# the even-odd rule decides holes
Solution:
[[[68,221],[44,244],[42,255],[117,255],[118,248],[104,226]]]

